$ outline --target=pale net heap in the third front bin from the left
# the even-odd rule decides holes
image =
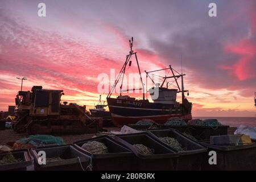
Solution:
[[[86,142],[82,145],[82,148],[89,151],[92,154],[108,154],[108,147],[104,143],[92,141]]]

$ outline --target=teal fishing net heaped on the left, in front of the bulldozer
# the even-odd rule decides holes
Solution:
[[[47,144],[65,144],[62,138],[54,137],[52,135],[30,135],[28,138],[17,140],[16,143],[30,144],[36,147],[44,146]]]

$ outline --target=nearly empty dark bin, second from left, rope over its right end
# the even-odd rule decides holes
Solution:
[[[39,164],[39,151],[46,152],[46,158],[61,158],[46,164]],[[31,155],[35,159],[35,169],[38,171],[89,171],[92,159],[77,150],[73,145],[32,148]]]

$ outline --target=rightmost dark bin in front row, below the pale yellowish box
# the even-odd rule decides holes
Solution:
[[[210,156],[205,155],[202,166],[204,170],[256,170],[256,143],[238,146],[219,146],[209,142],[201,142],[209,151],[216,152],[217,164],[210,165]],[[207,153],[208,154],[208,153]]]

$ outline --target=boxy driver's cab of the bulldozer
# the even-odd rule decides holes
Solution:
[[[63,90],[35,89],[32,93],[31,115],[59,115],[60,98]]]

